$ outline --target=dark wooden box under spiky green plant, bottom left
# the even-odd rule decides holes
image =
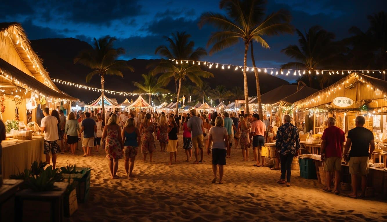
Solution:
[[[63,197],[68,183],[56,182],[58,191],[35,192],[27,189],[15,195],[16,221],[63,221]]]

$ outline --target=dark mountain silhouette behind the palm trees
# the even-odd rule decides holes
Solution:
[[[74,38],[65,39],[38,39],[31,40],[31,46],[33,50],[43,59],[43,65],[50,73],[51,78],[61,79],[68,82],[74,82],[90,87],[101,88],[101,79],[98,76],[94,76],[91,82],[86,83],[86,75],[91,72],[91,69],[81,64],[74,64],[74,57],[80,52],[80,50],[90,48],[87,42]],[[127,61],[128,65],[134,67],[134,72],[123,71],[124,77],[107,76],[105,78],[105,89],[113,91],[132,92],[137,89],[133,85],[133,81],[143,81],[141,74],[149,72],[146,67],[149,64],[157,64],[158,59],[132,59]],[[243,73],[240,69],[235,71],[234,69],[221,69],[219,66],[217,69],[212,66],[209,69],[208,66],[202,66],[205,71],[212,72],[214,78],[205,79],[211,86],[215,88],[217,85],[224,85],[227,89],[231,90],[234,86],[240,86],[243,89]],[[254,72],[247,72],[249,96],[256,96],[255,87],[255,75]],[[287,81],[280,79],[270,74],[260,72],[260,89],[261,94],[270,91],[283,84],[289,84]],[[85,103],[94,101],[101,93],[91,90],[80,89],[74,86],[67,86],[55,82],[58,88],[70,96],[79,98]],[[175,85],[171,82],[168,86],[171,92],[175,92]],[[118,103],[122,103],[125,98],[135,100],[137,96],[120,96],[113,94],[106,94],[108,98],[116,98]],[[200,99],[199,99],[200,100]],[[201,100],[200,100],[201,101]]]

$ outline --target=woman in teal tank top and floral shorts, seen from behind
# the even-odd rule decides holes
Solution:
[[[137,155],[137,150],[141,142],[139,129],[136,128],[134,118],[129,118],[122,130],[123,152],[125,154],[125,171],[129,177],[134,177],[132,174],[134,167],[134,159]],[[130,167],[129,167],[130,162]]]

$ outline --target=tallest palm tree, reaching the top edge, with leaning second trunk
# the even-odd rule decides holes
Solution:
[[[214,32],[208,40],[207,46],[212,45],[209,52],[212,55],[215,52],[228,48],[243,40],[245,45],[245,54],[243,58],[243,81],[245,90],[245,111],[249,113],[248,108],[248,88],[247,88],[247,51],[250,42],[258,42],[262,47],[269,48],[267,42],[262,39],[264,35],[277,35],[284,32],[292,32],[289,25],[290,14],[288,11],[279,10],[272,13],[265,20],[263,19],[266,4],[265,0],[222,0],[219,4],[221,9],[225,9],[228,17],[220,13],[206,12],[200,17],[199,26],[210,23],[220,29]],[[257,95],[260,96],[259,78],[256,74]],[[262,116],[262,107],[260,115]]]

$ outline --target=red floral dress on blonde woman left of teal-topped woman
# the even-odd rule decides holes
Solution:
[[[106,158],[108,159],[122,159],[122,147],[118,141],[118,130],[106,129],[105,140]]]

